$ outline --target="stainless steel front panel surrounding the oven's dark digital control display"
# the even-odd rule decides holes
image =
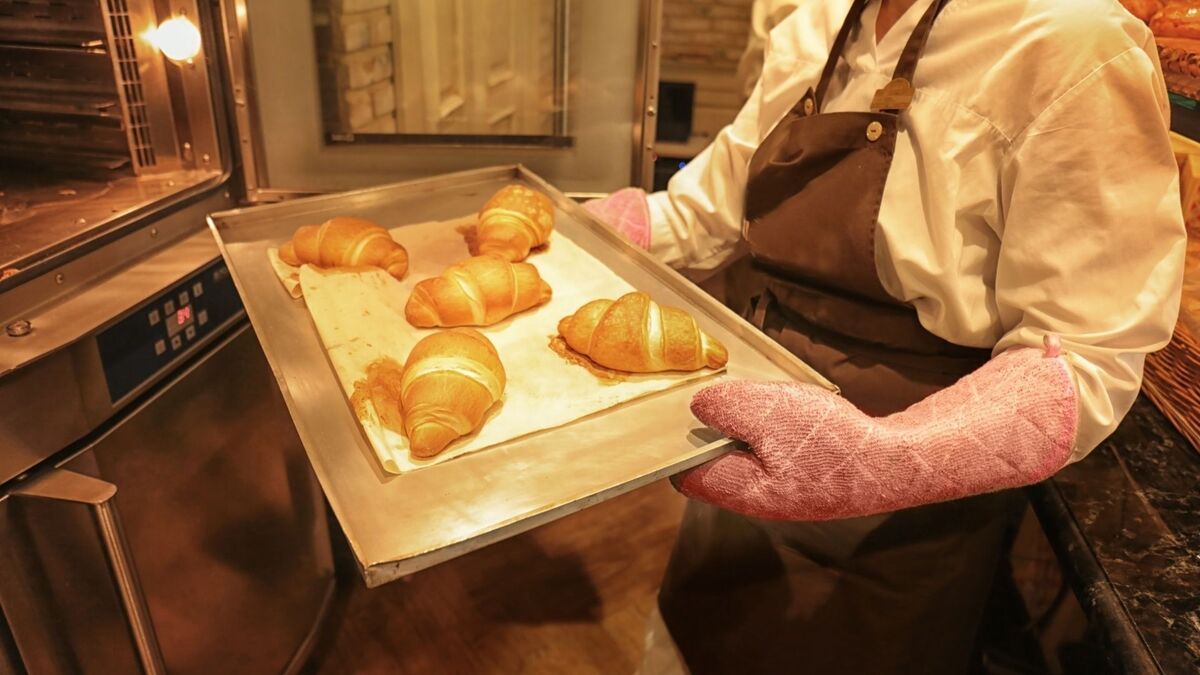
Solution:
[[[118,241],[0,293],[0,483],[78,441],[131,396],[112,401],[88,336],[220,256],[204,214],[223,192],[152,221]],[[137,259],[130,264],[131,259]],[[115,269],[115,271],[113,271]],[[26,335],[7,327],[29,322]],[[203,350],[206,338],[188,347]],[[36,419],[37,424],[28,420]]]

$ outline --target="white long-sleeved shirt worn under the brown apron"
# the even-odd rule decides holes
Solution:
[[[822,112],[866,110],[931,0],[876,44],[852,35]],[[712,269],[740,235],[751,155],[809,88],[851,0],[805,0],[770,34],[737,119],[650,197],[652,252]],[[1116,0],[950,0],[917,66],[875,267],[950,342],[1062,338],[1079,393],[1072,460],[1112,432],[1170,339],[1186,234],[1153,38]]]

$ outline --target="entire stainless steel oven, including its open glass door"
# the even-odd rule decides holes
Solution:
[[[649,187],[659,0],[0,0],[0,673],[280,673],[326,510],[206,214]]]

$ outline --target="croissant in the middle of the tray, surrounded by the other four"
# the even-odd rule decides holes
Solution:
[[[418,283],[404,316],[418,328],[491,325],[545,303],[550,294],[532,264],[475,256]]]

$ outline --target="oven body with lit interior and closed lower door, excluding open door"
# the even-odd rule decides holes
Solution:
[[[204,226],[218,8],[0,0],[0,673],[295,670],[324,502]]]

